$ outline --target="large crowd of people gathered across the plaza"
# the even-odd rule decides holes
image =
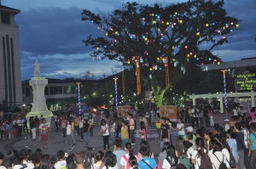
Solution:
[[[195,109],[192,112],[196,115]],[[226,119],[224,127],[214,123],[213,128],[206,128],[204,125],[197,127],[197,123],[201,124],[197,121],[185,123],[183,115],[179,115],[177,123],[173,123],[156,112],[154,124],[160,140],[154,145],[160,146],[160,152],[152,152],[150,149],[147,137],[150,121],[145,115],[140,115],[139,127],[136,127],[137,118],[128,112],[117,117],[111,116],[109,121],[102,118],[100,132],[96,134],[102,135],[103,148],[96,152],[89,140],[96,125],[90,113],[72,117],[55,115],[49,124],[43,116],[30,117],[28,123],[32,140],[40,139],[43,149],[34,152],[30,149],[12,150],[6,157],[0,153],[0,168],[253,169],[256,166],[255,114],[253,107],[250,114],[237,113]],[[22,118],[19,119],[22,121]],[[21,131],[22,128],[23,125]],[[133,149],[136,144],[136,128],[140,129],[137,133],[141,138],[137,151]],[[177,130],[177,138],[173,137],[171,128]],[[59,150],[56,155],[44,154],[44,149],[48,149],[49,137],[55,137],[54,133],[58,130],[67,148]],[[79,141],[84,142],[84,150],[73,153],[78,138],[76,135]]]

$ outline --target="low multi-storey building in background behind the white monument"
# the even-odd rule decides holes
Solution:
[[[77,105],[78,82],[80,82],[80,93],[86,95],[88,94],[87,91],[89,91],[88,87],[91,87],[90,90],[96,91],[100,87],[105,87],[107,80],[48,79],[48,85],[44,89],[44,95],[49,110],[67,110]],[[22,99],[24,104],[32,104],[32,87],[29,86],[29,81],[22,82]]]

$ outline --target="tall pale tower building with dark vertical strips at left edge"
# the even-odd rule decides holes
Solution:
[[[22,104],[19,26],[15,15],[20,10],[0,4],[0,104]]]

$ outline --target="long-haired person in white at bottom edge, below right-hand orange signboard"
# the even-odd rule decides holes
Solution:
[[[167,157],[163,162],[162,169],[172,168],[173,166],[176,166],[178,162],[176,150],[173,145],[169,145],[166,152],[167,152]]]

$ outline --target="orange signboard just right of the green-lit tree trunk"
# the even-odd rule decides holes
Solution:
[[[161,105],[160,106],[160,116],[164,116],[168,119],[177,120],[178,108],[176,105]]]

